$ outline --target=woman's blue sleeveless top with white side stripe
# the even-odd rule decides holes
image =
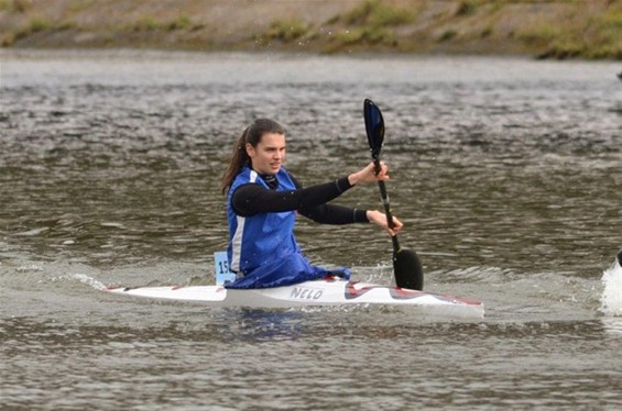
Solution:
[[[276,174],[277,191],[295,190],[290,174],[281,168]],[[302,281],[341,275],[349,278],[347,268],[326,270],[310,265],[303,256],[294,237],[296,211],[268,212],[251,216],[237,215],[231,207],[236,189],[242,185],[258,184],[266,189],[268,184],[250,167],[244,167],[233,180],[227,196],[227,220],[229,223],[229,267],[237,279],[227,288],[281,287]]]

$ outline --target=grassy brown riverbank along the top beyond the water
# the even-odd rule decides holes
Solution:
[[[620,0],[0,0],[2,47],[622,59]]]

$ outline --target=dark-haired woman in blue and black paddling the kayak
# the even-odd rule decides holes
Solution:
[[[327,275],[350,277],[347,268],[329,271],[303,256],[294,237],[296,212],[324,224],[372,222],[392,235],[402,229],[395,216],[389,227],[380,211],[328,203],[357,184],[389,179],[384,164],[378,175],[370,163],[347,177],[303,188],[283,168],[284,158],[285,130],[270,119],[255,120],[236,143],[222,177],[229,223],[227,256],[237,274],[228,288],[280,287]]]

